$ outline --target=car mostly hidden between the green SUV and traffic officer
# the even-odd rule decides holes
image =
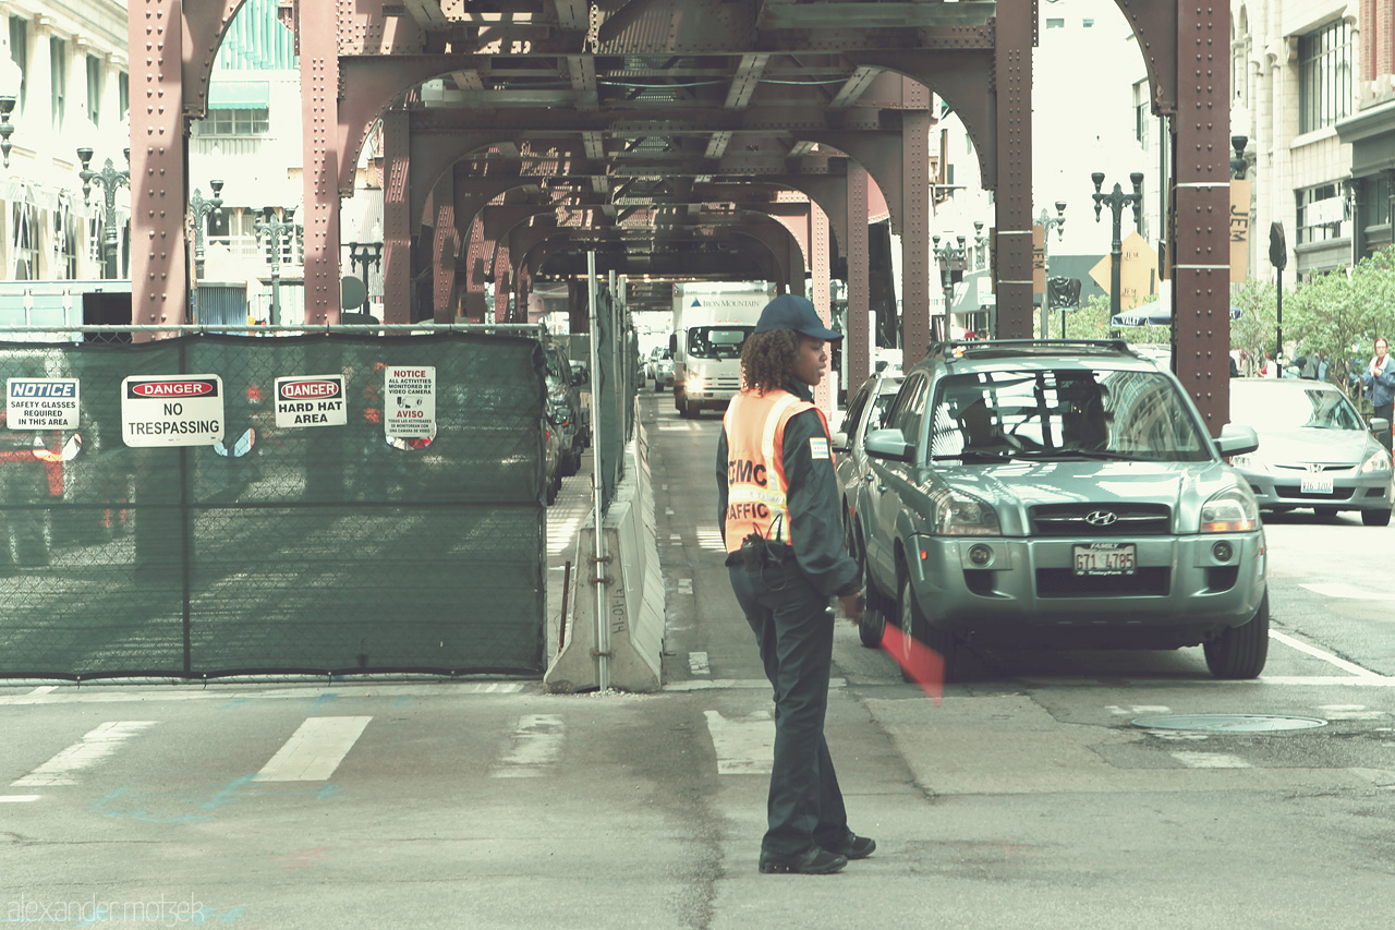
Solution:
[[[866,564],[866,526],[862,515],[862,487],[872,473],[866,455],[866,434],[880,429],[886,408],[901,388],[901,370],[886,367],[869,377],[848,402],[843,426],[833,434],[834,469],[843,497],[843,540],[858,566]],[[879,610],[864,610],[858,633],[862,645],[882,645],[886,617]]]

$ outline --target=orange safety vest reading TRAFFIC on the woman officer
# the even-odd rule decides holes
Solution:
[[[784,473],[784,427],[790,418],[819,411],[788,391],[742,391],[731,399],[723,426],[727,430],[727,552],[757,533],[790,543],[790,482]],[[824,434],[829,422],[819,411]]]

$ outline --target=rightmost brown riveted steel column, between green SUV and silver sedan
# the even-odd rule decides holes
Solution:
[[[1193,1],[1177,14],[1173,338],[1177,377],[1219,436],[1230,419],[1230,10]]]

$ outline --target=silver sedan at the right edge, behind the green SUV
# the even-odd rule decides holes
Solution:
[[[1387,419],[1367,423],[1325,381],[1232,378],[1230,422],[1254,427],[1260,437],[1258,450],[1230,464],[1262,510],[1355,510],[1367,526],[1389,525],[1391,457],[1373,434],[1389,430]]]

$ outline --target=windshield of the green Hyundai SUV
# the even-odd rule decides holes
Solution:
[[[1156,371],[1000,370],[943,378],[929,459],[1101,458],[1201,462],[1212,444]]]

